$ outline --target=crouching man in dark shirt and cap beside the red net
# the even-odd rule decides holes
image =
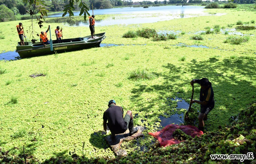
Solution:
[[[109,101],[108,107],[103,114],[103,128],[106,131],[108,125],[112,140],[114,140],[116,134],[124,133],[127,128],[130,136],[138,132],[139,129],[133,127],[131,110],[128,110],[124,116],[124,109],[121,106],[117,106],[116,101],[113,99]]]

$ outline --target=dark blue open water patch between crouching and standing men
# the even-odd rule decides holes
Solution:
[[[188,108],[189,108],[189,103],[187,103],[182,98],[178,98],[178,97],[175,97],[175,99],[167,98],[167,100],[177,101],[176,109],[187,109],[188,110]],[[165,114],[165,115],[167,115],[167,114]],[[165,127],[166,125],[169,125],[169,124],[180,125],[180,124],[184,123],[184,114],[183,113],[181,113],[181,114],[176,113],[167,118],[164,116],[159,116],[158,118],[160,118],[160,120],[161,120],[161,122],[160,122],[161,127],[159,127],[159,128]]]

